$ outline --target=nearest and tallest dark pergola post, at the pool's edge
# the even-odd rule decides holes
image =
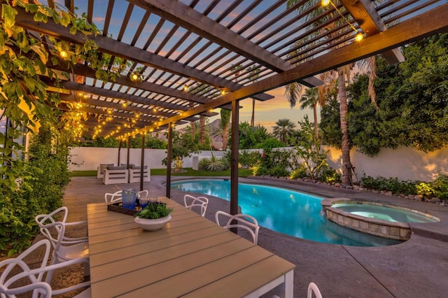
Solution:
[[[232,144],[230,145],[230,214],[238,213],[239,100],[232,101]]]

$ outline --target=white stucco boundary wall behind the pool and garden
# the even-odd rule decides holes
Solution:
[[[342,159],[340,150],[328,148],[328,164],[334,169],[341,169]],[[215,156],[222,156],[223,151],[214,151]],[[165,149],[145,149],[145,164],[151,169],[162,169],[162,159],[167,156]],[[210,157],[210,151],[203,151],[198,155]],[[351,150],[351,163],[356,167],[358,178],[363,173],[368,176],[398,177],[399,180],[430,181],[437,176],[437,172],[448,174],[448,148],[435,152],[421,152],[413,148],[399,148],[397,150],[381,149],[376,157],[362,155],[356,149]],[[130,164],[140,164],[141,150],[130,149]],[[125,164],[127,149],[120,150],[120,163]],[[71,171],[96,170],[99,164],[117,164],[118,148],[71,148]],[[186,157],[183,162],[186,168],[193,167],[193,158]]]

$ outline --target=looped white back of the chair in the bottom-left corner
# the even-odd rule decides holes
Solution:
[[[15,297],[18,294],[32,292],[31,297],[50,298],[52,295],[51,287],[48,283],[43,282],[43,276],[46,273],[44,269],[50,256],[50,248],[50,241],[43,239],[34,243],[18,257],[1,261],[0,271],[3,271],[0,274],[0,297]],[[30,269],[23,259],[33,253],[34,250],[41,250],[43,258],[37,268]],[[26,285],[22,285],[26,279],[28,280]],[[16,284],[20,280],[22,280],[20,284]]]

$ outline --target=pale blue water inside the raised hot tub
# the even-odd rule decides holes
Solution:
[[[421,215],[416,212],[393,208],[388,206],[379,206],[374,204],[357,203],[339,203],[332,207],[342,211],[363,216],[365,218],[375,218],[377,220],[386,220],[388,222],[437,222],[435,218]]]

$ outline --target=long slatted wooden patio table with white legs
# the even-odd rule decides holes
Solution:
[[[293,297],[292,264],[160,197],[166,227],[144,231],[132,215],[87,205],[92,297]]]

